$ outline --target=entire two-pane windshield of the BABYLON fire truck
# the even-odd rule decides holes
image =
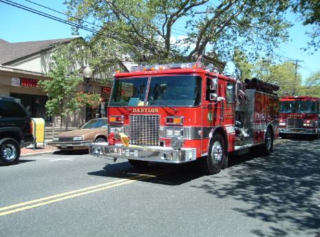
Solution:
[[[109,106],[145,105],[148,78],[115,79]],[[198,106],[201,100],[200,76],[153,76],[148,106]]]

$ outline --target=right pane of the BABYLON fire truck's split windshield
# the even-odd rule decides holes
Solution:
[[[147,105],[197,106],[201,99],[200,76],[151,77]]]

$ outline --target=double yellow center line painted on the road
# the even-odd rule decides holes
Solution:
[[[94,185],[92,187],[85,187],[83,189],[76,189],[74,191],[65,192],[63,194],[56,194],[56,195],[53,195],[53,196],[47,196],[45,198],[39,198],[39,199],[35,199],[35,200],[30,200],[30,201],[24,202],[24,203],[18,203],[18,204],[10,205],[10,206],[7,206],[7,207],[1,207],[0,208],[0,216],[5,216],[5,215],[8,215],[8,214],[12,214],[14,212],[21,212],[21,211],[26,210],[26,209],[32,209],[34,207],[40,207],[40,206],[47,205],[47,204],[50,204],[50,203],[56,203],[56,202],[61,201],[61,200],[67,200],[67,199],[70,199],[70,198],[75,198],[77,196],[83,196],[83,195],[86,195],[86,194],[92,194],[94,192],[103,191],[105,189],[110,189],[112,187],[118,187],[118,186],[121,186],[121,185],[127,185],[129,183],[140,181],[140,180],[143,180],[143,179],[146,179],[146,178],[153,178],[153,177],[156,177],[156,175],[166,174],[166,173],[169,173],[169,172],[172,172],[172,171],[173,170],[164,170],[163,169],[163,170],[160,170],[158,172],[151,172],[149,174],[139,174],[138,176],[134,176],[134,177],[131,177],[131,178],[122,178],[119,181],[112,181],[112,182],[109,182],[109,183],[103,183],[103,184],[100,184],[100,185]],[[52,199],[52,200],[50,200],[50,199]],[[47,200],[47,201],[45,201],[45,200]],[[36,204],[30,205],[30,204],[33,204],[33,203],[36,203]],[[26,205],[28,205],[28,206],[26,206]],[[22,206],[25,206],[25,207],[22,207]],[[20,208],[14,209],[16,207],[20,207]],[[6,212],[2,212],[2,211],[7,210],[7,209],[11,209],[11,210],[6,211]]]

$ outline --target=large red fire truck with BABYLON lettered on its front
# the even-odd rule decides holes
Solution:
[[[196,161],[207,174],[227,167],[230,152],[261,145],[266,154],[278,137],[279,87],[257,79],[237,81],[202,63],[138,67],[117,73],[108,116],[108,143],[89,153],[148,161]],[[125,93],[122,93],[125,92]]]

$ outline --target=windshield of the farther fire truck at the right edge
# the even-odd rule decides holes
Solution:
[[[281,101],[281,113],[315,113],[317,112],[315,101]]]

